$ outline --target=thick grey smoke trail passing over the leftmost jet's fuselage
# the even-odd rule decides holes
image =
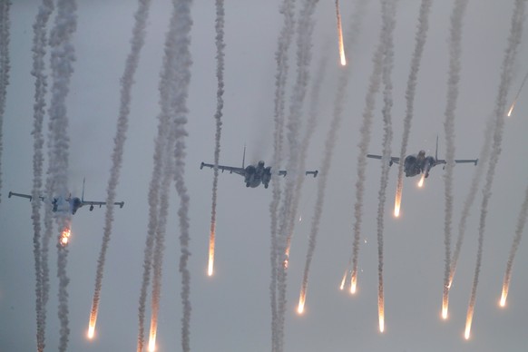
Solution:
[[[57,194],[66,198],[69,138],[67,134],[68,117],[66,115],[66,96],[69,91],[70,78],[73,73],[74,50],[71,44],[73,32],[76,29],[77,5],[74,0],[59,0],[54,28],[50,34],[51,69],[53,76],[52,99],[49,108],[50,130],[50,177],[52,181],[47,194]],[[70,227],[71,214],[56,213],[59,232]],[[59,351],[65,351],[68,346],[70,328],[68,327],[68,292],[69,279],[66,275],[68,249],[57,243],[57,276],[59,278],[59,308],[60,320]]]

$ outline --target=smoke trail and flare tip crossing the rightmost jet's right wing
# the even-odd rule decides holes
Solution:
[[[449,277],[451,274],[451,225],[453,221],[453,168],[455,167],[455,109],[460,81],[460,57],[462,55],[462,22],[467,0],[457,0],[451,15],[449,37],[449,73],[447,79],[447,103],[445,105],[445,271],[442,297],[442,317],[447,318]]]

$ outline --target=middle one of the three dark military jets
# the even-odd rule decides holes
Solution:
[[[230,173],[238,173],[240,176],[244,177],[244,182],[246,182],[246,187],[259,187],[260,183],[264,185],[264,188],[269,187],[269,181],[271,180],[271,166],[265,167],[264,161],[259,161],[257,165],[248,165],[247,167],[244,167],[244,161],[246,159],[246,149],[244,148],[244,154],[242,156],[242,167],[234,167],[234,166],[223,166],[218,165],[218,169],[223,171],[230,171]],[[211,169],[214,169],[214,164],[208,164],[205,162],[201,162],[200,169],[203,169],[203,167],[208,167]],[[285,170],[279,170],[278,175],[279,176],[286,176],[288,172]],[[318,176],[319,171],[306,171],[305,175],[314,175],[314,177]]]

